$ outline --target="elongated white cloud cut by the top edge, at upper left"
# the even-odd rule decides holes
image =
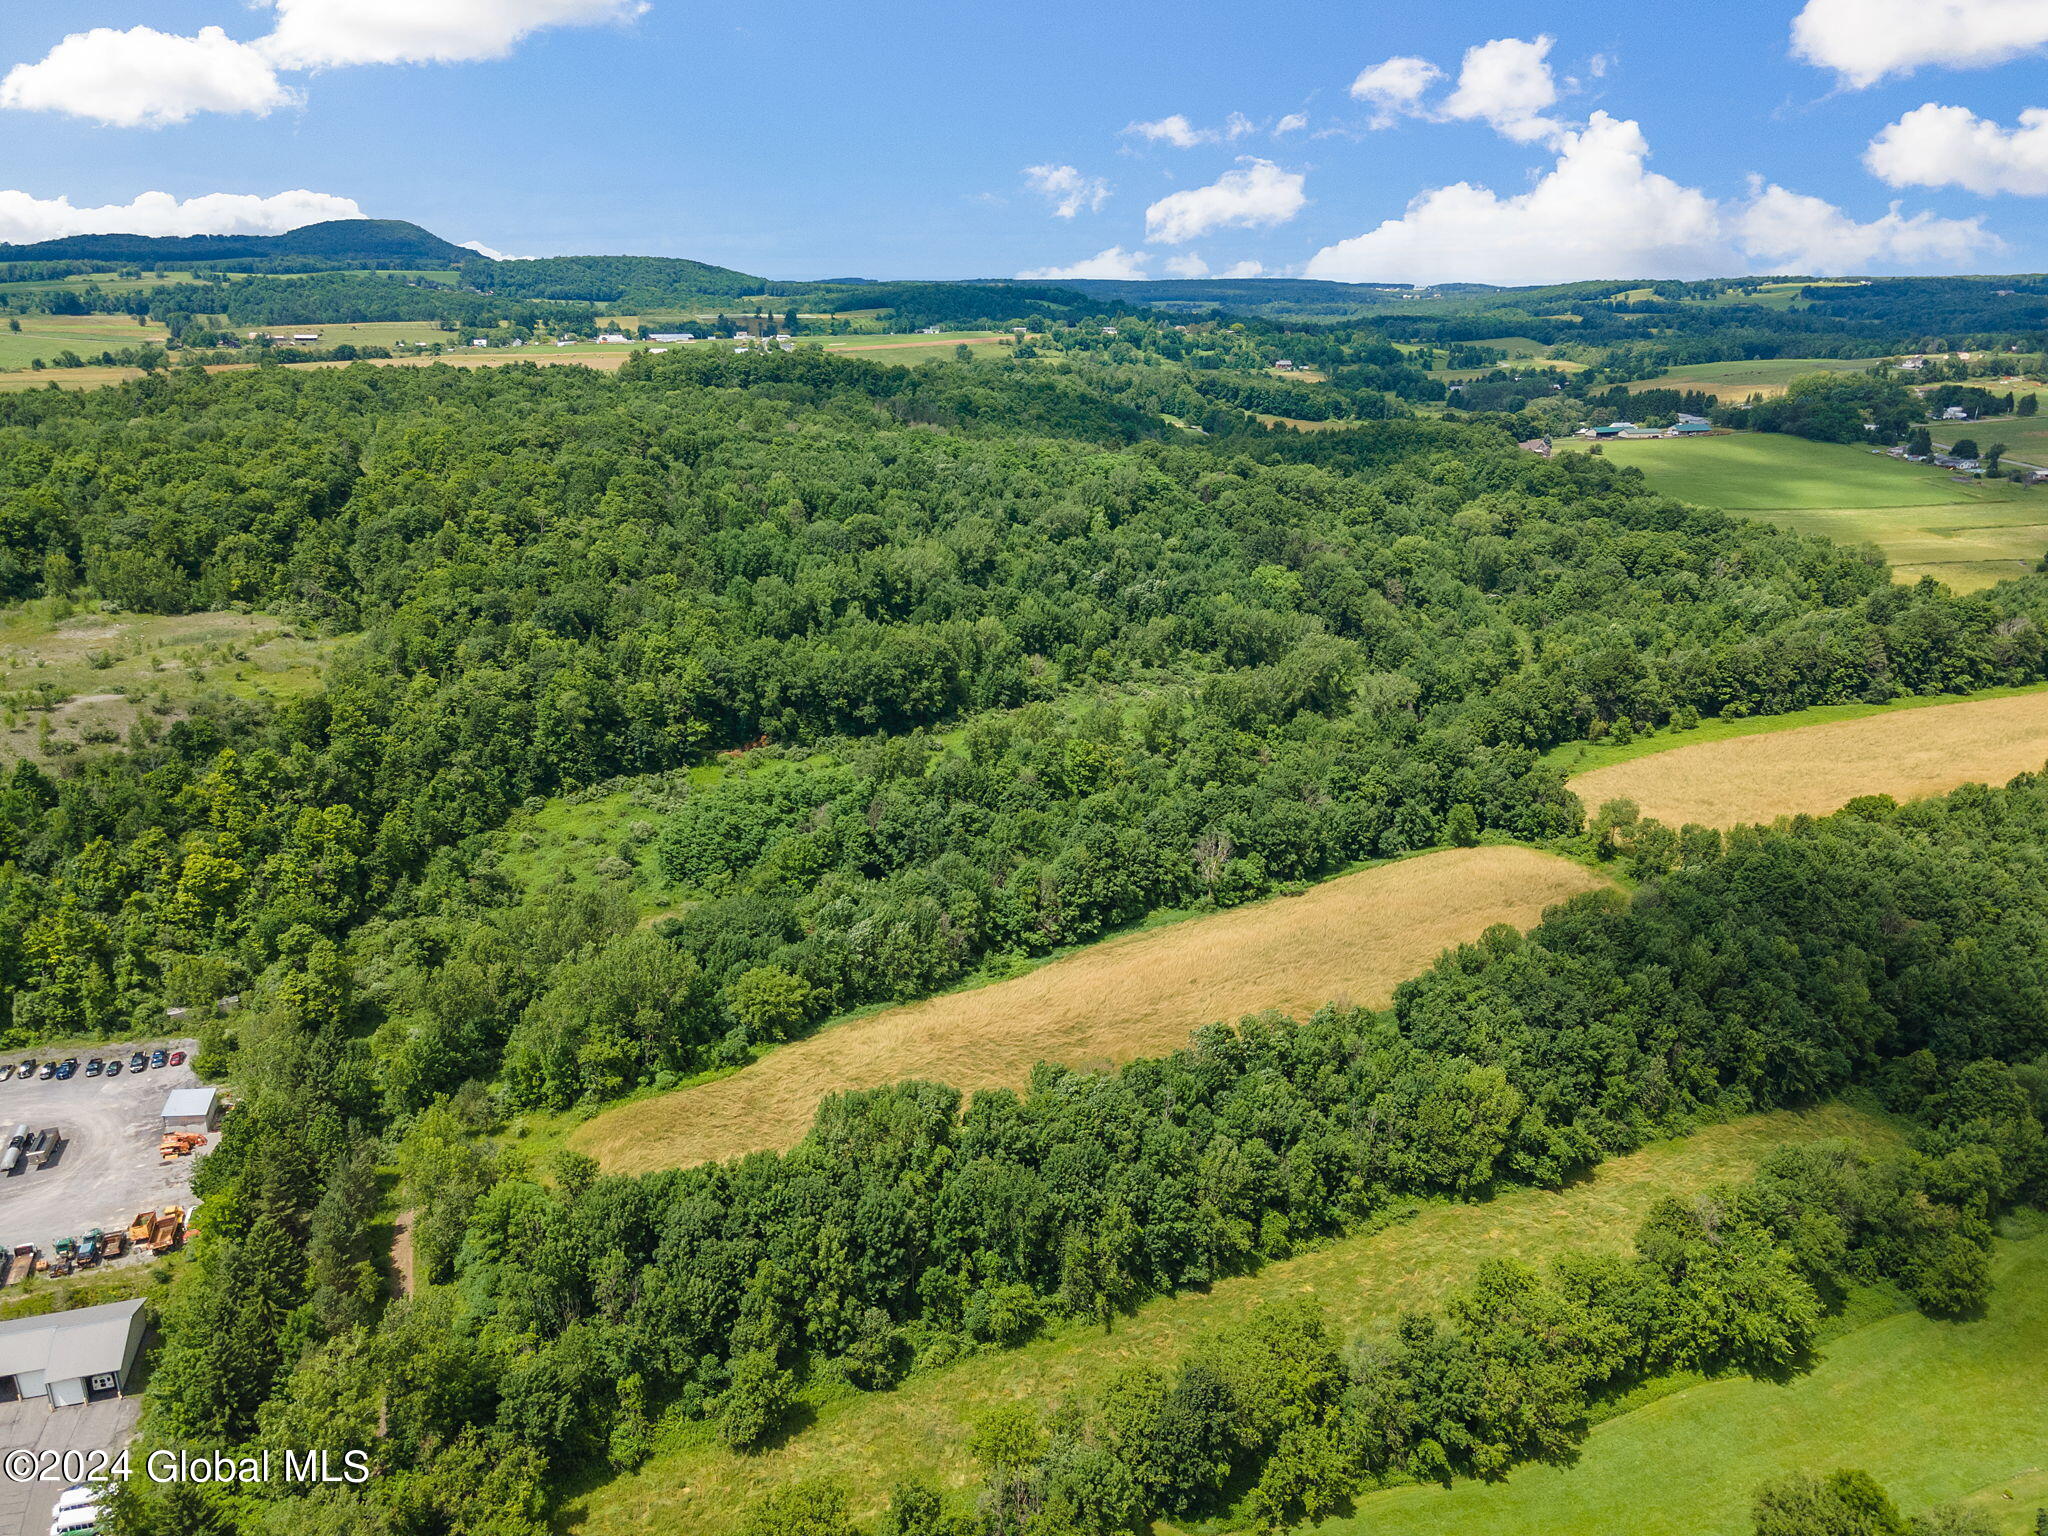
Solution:
[[[502,59],[545,27],[629,20],[643,0],[268,0],[276,29],[256,47],[289,70],[338,63]]]

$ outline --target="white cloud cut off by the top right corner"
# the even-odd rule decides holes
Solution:
[[[2042,0],[1806,0],[1792,20],[1792,51],[1858,88],[1927,63],[1980,70],[2042,49]]]

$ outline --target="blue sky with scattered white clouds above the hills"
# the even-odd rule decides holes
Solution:
[[[2048,268],[2048,0],[25,10],[8,240],[354,205],[770,276]]]

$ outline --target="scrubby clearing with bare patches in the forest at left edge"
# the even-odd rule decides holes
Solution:
[[[285,698],[319,686],[332,639],[252,612],[72,612],[41,598],[0,608],[0,762],[113,745],[207,692]]]

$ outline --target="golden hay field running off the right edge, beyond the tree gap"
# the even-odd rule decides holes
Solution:
[[[2003,784],[2044,762],[2048,692],[2034,692],[1700,741],[1577,774],[1571,788],[1587,811],[1628,799],[1673,827],[1733,827],[1825,815],[1858,795],[1911,801]]]

